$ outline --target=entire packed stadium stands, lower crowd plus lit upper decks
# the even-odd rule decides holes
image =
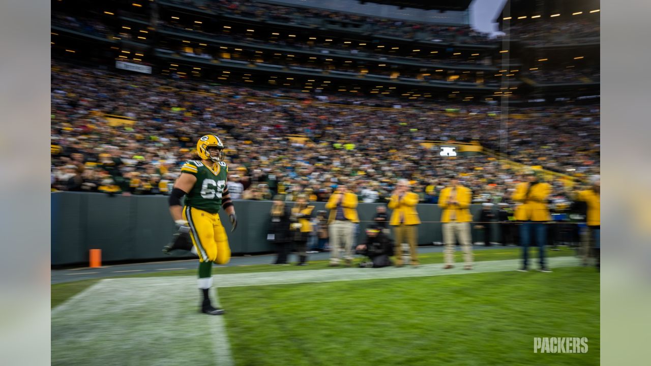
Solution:
[[[508,201],[523,167],[560,199],[599,174],[598,12],[516,2],[492,36],[272,1],[52,11],[53,190],[166,194],[208,132],[249,199],[346,182],[385,201],[408,178],[433,202],[455,174],[475,202]]]

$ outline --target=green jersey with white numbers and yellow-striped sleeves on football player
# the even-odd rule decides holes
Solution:
[[[199,160],[188,160],[182,173],[197,177],[197,182],[186,195],[186,206],[198,208],[216,214],[221,208],[221,195],[226,189],[229,167],[225,162],[215,164],[215,170],[210,169]]]

